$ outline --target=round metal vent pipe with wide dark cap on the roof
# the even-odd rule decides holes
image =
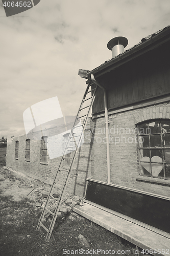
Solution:
[[[108,44],[107,48],[112,51],[112,58],[120,53],[125,52],[125,47],[128,45],[128,39],[123,36],[117,36],[112,38]]]

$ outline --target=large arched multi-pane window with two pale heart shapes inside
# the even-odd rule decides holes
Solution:
[[[140,175],[170,179],[170,120],[137,126]]]

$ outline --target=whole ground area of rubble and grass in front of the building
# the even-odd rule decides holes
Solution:
[[[24,180],[0,166],[0,256],[61,256],[73,254],[74,250],[122,250],[119,256],[129,256],[126,249],[134,247],[110,231],[72,212],[81,198],[65,193],[50,241],[45,242],[46,231],[36,230],[45,205],[43,194],[50,191],[50,185]],[[55,189],[59,197],[60,189]],[[57,201],[51,200],[48,209],[53,211]],[[51,222],[45,215],[45,226]],[[87,241],[82,244],[80,237]],[[65,249],[64,249],[65,248]],[[63,249],[68,252],[63,253]],[[81,251],[82,252],[82,251]],[[77,255],[81,255],[77,254]],[[98,253],[98,255],[102,255]],[[108,254],[113,255],[113,254]]]

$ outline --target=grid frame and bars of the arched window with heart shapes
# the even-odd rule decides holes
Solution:
[[[159,129],[160,129],[160,132],[155,132],[155,133],[152,133],[151,132],[151,129],[149,128],[149,124],[151,124],[151,123],[153,123],[153,122],[155,122],[155,124],[157,123],[158,125],[159,125]],[[166,124],[168,124],[169,123],[169,126],[170,126],[170,119],[151,119],[151,120],[146,120],[146,121],[144,121],[144,122],[142,122],[142,123],[138,123],[136,126],[137,126],[137,142],[138,142],[138,163],[139,163],[139,175],[140,176],[143,176],[143,177],[150,177],[150,178],[158,178],[158,179],[164,179],[164,180],[170,180],[170,176],[166,176],[166,172],[165,172],[165,166],[167,166],[167,168],[170,166],[170,161],[169,161],[169,159],[167,160],[167,161],[165,161],[165,153],[170,153],[170,144],[168,144],[168,145],[165,145],[165,144],[163,144],[163,143],[165,143],[165,135],[167,135],[167,134],[169,134],[169,136],[170,136],[170,130],[169,130],[169,132],[164,132],[163,131],[163,125],[162,124],[164,124],[164,123],[166,123]],[[140,132],[139,132],[139,128],[141,127],[141,126],[144,126],[145,125],[145,127],[147,127],[146,129],[148,130],[146,130],[146,133],[144,133],[144,134],[141,134]],[[153,130],[155,129],[155,126],[154,126],[154,128],[153,128]],[[158,129],[158,126],[157,126],[157,129]],[[151,138],[152,138],[152,140],[154,141],[154,139],[156,138],[156,136],[158,136],[159,135],[159,137],[160,137],[160,142],[161,142],[161,146],[151,146]],[[148,137],[148,142],[149,142],[149,146],[141,146],[141,140],[139,141],[139,137],[142,137],[142,136],[145,136],[145,138],[147,138]],[[155,137],[153,137],[153,136],[155,136]],[[158,139],[159,140],[159,139]],[[143,143],[143,141],[144,141],[144,139],[142,140],[142,143]],[[153,143],[153,142],[152,142]],[[154,144],[154,143],[153,143]],[[150,158],[150,161],[146,161],[145,163],[150,163],[150,171],[151,171],[151,175],[147,175],[147,174],[144,174],[144,170],[143,170],[143,166],[142,166],[142,164],[141,163],[144,163],[144,161],[141,161],[141,159],[143,158],[143,152],[144,152],[144,150],[145,150],[145,152],[147,152],[147,150],[148,150],[148,152],[149,152],[149,158]],[[156,161],[152,161],[152,154],[153,154],[153,152],[154,151],[160,151],[161,152],[161,156],[162,156],[162,162],[156,162]],[[152,152],[151,152],[152,151]],[[141,153],[142,152],[142,153]],[[142,156],[142,157],[141,157]],[[155,155],[155,156],[157,156],[157,155]],[[169,162],[168,162],[169,161]],[[163,165],[163,177],[161,177],[161,176],[154,176],[153,175],[153,173],[152,173],[152,164],[153,164],[153,166],[154,166],[154,163],[155,164],[157,164],[157,163],[159,163],[159,164],[161,164],[162,163],[162,165]],[[162,172],[162,169],[161,169],[161,171],[160,171],[160,173]],[[142,172],[141,172],[141,170],[142,170]],[[147,169],[146,169],[147,170]],[[148,171],[149,172],[149,171]]]

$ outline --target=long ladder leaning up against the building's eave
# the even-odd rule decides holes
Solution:
[[[50,189],[50,192],[49,192],[49,194],[48,194],[48,196],[47,196],[45,206],[44,206],[44,208],[43,208],[43,210],[42,210],[42,214],[41,214],[41,217],[40,217],[40,219],[39,219],[39,222],[38,222],[38,225],[37,225],[37,228],[36,228],[36,229],[39,229],[40,226],[42,226],[42,227],[47,231],[47,235],[46,235],[45,240],[49,240],[50,237],[51,237],[51,234],[52,234],[52,231],[53,231],[53,228],[54,228],[54,225],[55,225],[55,221],[56,221],[56,218],[57,218],[59,209],[60,209],[60,205],[61,205],[61,203],[62,203],[62,199],[63,199],[64,193],[65,193],[65,189],[66,189],[66,186],[67,186],[69,177],[70,177],[70,173],[71,173],[72,167],[74,166],[74,163],[75,163],[75,160],[76,160],[77,150],[78,150],[78,148],[79,148],[80,145],[81,145],[81,141],[82,141],[82,138],[83,138],[83,133],[84,133],[84,131],[85,131],[85,127],[86,127],[86,124],[87,124],[87,121],[88,121],[89,112],[90,112],[91,106],[92,106],[92,104],[93,104],[93,102],[94,102],[94,99],[95,99],[95,92],[96,92],[96,90],[98,89],[98,86],[96,86],[94,89],[91,90],[91,91],[94,91],[94,92],[93,92],[92,97],[90,97],[90,98],[91,98],[91,101],[90,101],[89,106],[87,106],[87,107],[85,107],[85,108],[82,108],[82,105],[83,105],[84,101],[86,101],[85,98],[86,98],[87,94],[88,94],[89,92],[91,92],[91,91],[88,91],[88,90],[89,90],[90,86],[92,86],[92,84],[94,84],[94,83],[90,83],[90,82],[88,83],[88,86],[87,86],[86,91],[85,91],[85,93],[84,93],[83,100],[82,100],[82,102],[81,102],[81,104],[80,104],[80,108],[79,108],[79,110],[78,110],[78,113],[77,113],[77,116],[76,116],[74,125],[72,126],[71,132],[69,133],[68,140],[67,140],[67,143],[66,143],[66,145],[65,145],[64,152],[63,152],[63,156],[62,156],[62,158],[61,158],[61,161],[60,161],[60,164],[59,164],[59,166],[58,166],[58,169],[57,169],[57,172],[56,172],[56,175],[55,175],[53,184],[52,184],[51,189]],[[88,98],[88,99],[90,99],[90,98]],[[88,99],[87,99],[87,100],[88,100]],[[79,119],[79,114],[80,114],[81,110],[82,110],[82,109],[86,109],[86,108],[88,108],[88,111],[87,111],[87,114],[85,115],[85,119],[84,119],[83,125],[79,125],[79,126],[82,126],[82,130],[81,130],[81,132],[80,132],[80,135],[75,136],[75,137],[79,137],[78,142],[76,142],[76,139],[75,139],[75,137],[74,137],[74,130],[77,128],[77,127],[76,127],[76,122],[77,122],[77,120]],[[81,118],[81,117],[80,117],[80,118]],[[81,119],[80,119],[80,120],[81,120]],[[78,126],[78,127],[79,127],[79,126]],[[47,229],[47,228],[42,224],[42,222],[43,222],[43,219],[44,219],[44,216],[45,216],[45,212],[46,212],[46,211],[50,212],[50,214],[51,214],[51,211],[48,210],[48,208],[47,208],[47,207],[48,207],[48,203],[50,202],[50,198],[53,197],[51,193],[53,193],[53,189],[54,189],[55,184],[56,184],[57,175],[58,175],[58,173],[60,172],[60,170],[62,170],[62,169],[61,169],[62,161],[63,161],[64,159],[68,159],[67,157],[64,157],[64,156],[66,155],[66,152],[68,151],[68,150],[67,150],[67,149],[69,148],[68,144],[69,144],[70,142],[73,142],[73,141],[70,141],[71,138],[74,139],[74,142],[75,142],[75,146],[74,146],[74,147],[76,147],[76,149],[75,149],[75,151],[74,151],[73,156],[72,156],[71,158],[69,158],[69,159],[71,159],[71,163],[70,163],[70,165],[69,165],[69,168],[66,169],[67,175],[66,175],[66,178],[65,178],[65,182],[64,182],[64,184],[63,184],[60,197],[58,198],[55,211],[54,211],[54,213],[52,214],[52,215],[53,215],[53,218],[52,218],[50,227]]]

